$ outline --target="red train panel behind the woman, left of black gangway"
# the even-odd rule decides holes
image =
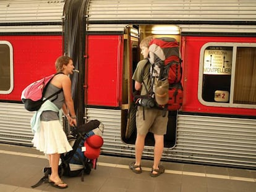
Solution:
[[[55,73],[56,58],[62,54],[60,35],[0,36],[13,48],[14,89],[0,94],[0,100],[20,101],[20,94],[29,83]]]

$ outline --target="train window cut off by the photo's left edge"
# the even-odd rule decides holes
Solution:
[[[0,41],[0,94],[9,94],[13,90],[12,45],[8,41]]]

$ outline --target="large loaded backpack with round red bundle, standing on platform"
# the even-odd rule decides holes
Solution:
[[[72,146],[72,151],[61,154],[61,164],[59,165],[59,176],[81,177],[83,182],[84,174],[90,174],[92,169],[96,169],[96,162],[100,156],[100,148],[103,145],[104,125],[98,120],[91,120],[81,125],[79,128],[72,128],[67,140]],[[49,183],[51,167],[43,169],[44,176],[35,185],[35,188],[42,183]]]

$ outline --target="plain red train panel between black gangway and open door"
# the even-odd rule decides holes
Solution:
[[[122,48],[122,36],[88,35],[85,104],[120,106]]]

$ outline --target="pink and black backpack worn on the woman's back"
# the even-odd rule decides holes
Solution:
[[[62,73],[62,72],[59,72]],[[49,75],[47,77],[41,78],[40,80],[34,81],[28,85],[21,95],[21,100],[25,104],[25,109],[27,111],[38,111],[41,105],[50,98],[53,98],[56,94],[61,93],[62,89],[56,91],[56,93],[51,94],[48,98],[43,98],[48,83],[53,79],[53,77],[59,73]]]

